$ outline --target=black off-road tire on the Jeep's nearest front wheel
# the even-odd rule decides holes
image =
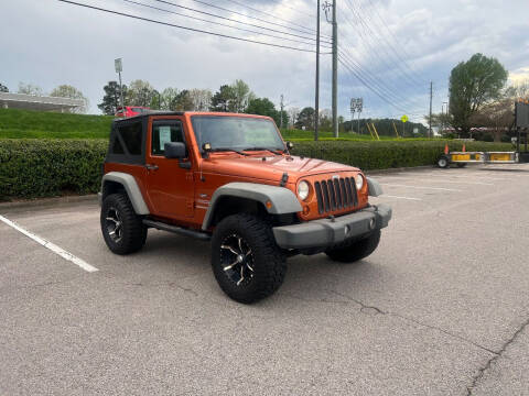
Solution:
[[[240,285],[237,285],[225,270],[224,243],[230,238],[234,240],[241,238],[246,251],[252,255],[251,277]],[[224,293],[242,304],[251,304],[271,296],[281,286],[287,274],[285,257],[276,244],[271,226],[266,220],[248,213],[229,216],[216,227],[212,239],[212,267]]]

